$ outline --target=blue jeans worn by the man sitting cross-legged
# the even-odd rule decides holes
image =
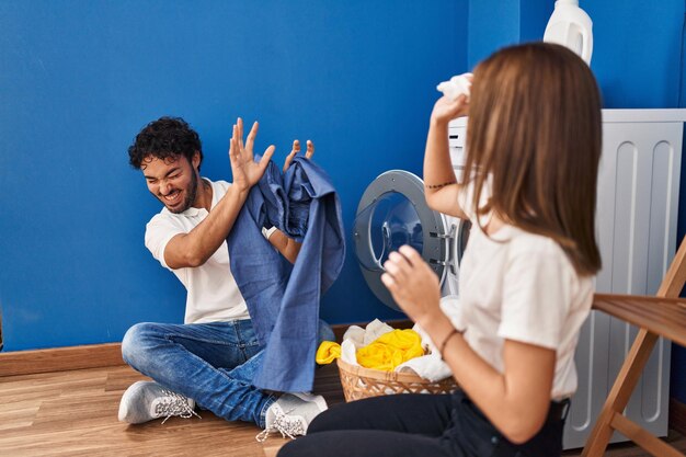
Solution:
[[[320,341],[333,340],[323,322],[319,333]],[[264,427],[266,410],[277,398],[250,384],[263,355],[250,320],[137,323],[124,335],[122,355],[162,387],[228,421]]]

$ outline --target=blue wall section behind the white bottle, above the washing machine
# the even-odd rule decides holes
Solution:
[[[471,0],[468,67],[495,49],[540,39],[552,0]],[[593,20],[593,59],[604,107],[677,107],[684,0],[581,0]]]

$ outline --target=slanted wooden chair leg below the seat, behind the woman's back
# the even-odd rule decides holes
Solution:
[[[602,457],[605,453],[613,435],[613,427],[610,426],[613,419],[615,414],[621,414],[627,407],[631,392],[633,392],[656,342],[656,334],[644,329],[639,330],[581,454],[582,457]]]

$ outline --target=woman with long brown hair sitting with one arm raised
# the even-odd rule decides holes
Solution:
[[[457,182],[447,127],[467,114]],[[333,408],[279,457],[560,455],[576,389],[574,350],[601,267],[601,132],[591,70],[552,44],[500,50],[476,68],[470,98],[436,102],[426,202],[472,221],[459,317],[451,322],[442,312],[438,278],[410,247],[390,254],[382,281],[439,349],[460,390]]]

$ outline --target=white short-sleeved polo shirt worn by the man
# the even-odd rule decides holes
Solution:
[[[230,183],[211,182],[211,206],[224,197]],[[229,267],[229,250],[226,241],[197,267],[173,270],[164,261],[167,243],[179,233],[187,233],[201,224],[209,213],[205,208],[188,208],[173,214],[167,208],[155,215],[146,226],[146,248],[162,266],[173,272],[187,290],[185,323],[206,323],[249,319],[245,300],[238,289]],[[274,230],[264,233],[268,238]]]

